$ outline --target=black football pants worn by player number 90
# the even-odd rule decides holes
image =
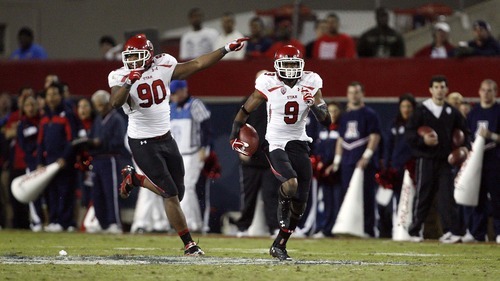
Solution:
[[[157,186],[163,197],[184,197],[184,162],[170,132],[149,139],[128,138],[137,166]]]

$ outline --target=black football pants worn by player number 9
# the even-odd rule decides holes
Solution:
[[[269,153],[274,175],[281,182],[297,178],[297,195],[307,200],[312,180],[312,165],[309,145],[305,141],[289,141],[285,150],[275,149]]]

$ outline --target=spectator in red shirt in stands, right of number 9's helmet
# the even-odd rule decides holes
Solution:
[[[339,32],[340,19],[338,15],[330,14],[326,21],[330,26],[330,32],[319,37],[314,42],[312,58],[355,58],[356,44],[349,35]]]

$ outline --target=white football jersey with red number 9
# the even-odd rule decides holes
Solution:
[[[285,149],[287,142],[301,140],[312,142],[306,134],[306,119],[309,107],[303,95],[315,96],[323,87],[318,74],[304,71],[293,88],[281,81],[276,72],[265,72],[255,80],[255,89],[267,100],[267,132],[269,151]]]

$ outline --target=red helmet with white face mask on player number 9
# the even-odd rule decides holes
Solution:
[[[298,79],[302,77],[304,59],[299,49],[292,45],[279,48],[274,54],[274,69],[279,77],[284,79]]]

